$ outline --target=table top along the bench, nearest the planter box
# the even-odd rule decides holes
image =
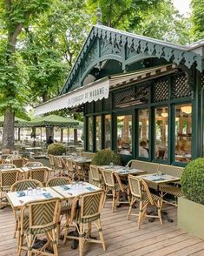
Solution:
[[[155,184],[161,184],[161,183],[169,183],[169,182],[174,182],[174,181],[179,181],[179,177],[174,177],[168,174],[157,174],[157,173],[151,173],[151,174],[146,174],[146,175],[141,175],[139,178],[144,179],[145,181],[148,182],[153,182]]]

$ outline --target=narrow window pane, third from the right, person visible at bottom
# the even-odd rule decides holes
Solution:
[[[148,158],[148,110],[139,111],[139,157]]]

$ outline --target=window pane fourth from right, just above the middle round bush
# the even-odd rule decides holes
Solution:
[[[132,152],[132,116],[117,117],[117,148],[121,154]]]

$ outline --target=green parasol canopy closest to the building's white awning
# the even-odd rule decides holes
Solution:
[[[30,127],[51,127],[51,126],[59,126],[59,127],[67,127],[67,128],[77,128],[79,122],[75,119],[71,118],[63,118],[57,115],[49,115],[43,118],[36,118],[30,122],[28,122],[28,126]]]

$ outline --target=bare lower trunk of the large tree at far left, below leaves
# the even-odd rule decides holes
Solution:
[[[3,122],[3,148],[12,150],[14,148],[14,111],[10,108],[6,109],[4,113]]]

